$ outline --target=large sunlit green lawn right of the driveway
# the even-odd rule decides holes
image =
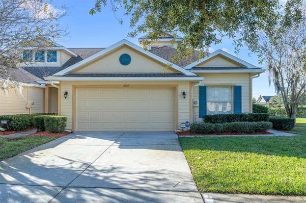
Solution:
[[[306,195],[306,118],[293,137],[180,138],[200,192]]]

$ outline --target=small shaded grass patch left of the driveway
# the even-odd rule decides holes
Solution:
[[[0,161],[54,139],[56,137],[19,137],[14,139],[0,137]]]

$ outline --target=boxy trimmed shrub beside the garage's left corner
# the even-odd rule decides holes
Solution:
[[[67,117],[65,116],[47,116],[44,118],[46,130],[58,133],[65,130],[67,126]]]

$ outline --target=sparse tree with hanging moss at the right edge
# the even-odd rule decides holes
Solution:
[[[287,116],[296,118],[297,108],[306,95],[306,2],[291,6],[272,33],[260,35],[260,55],[281,95]],[[294,10],[293,10],[294,9]]]

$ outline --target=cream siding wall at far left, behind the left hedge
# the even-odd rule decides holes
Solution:
[[[30,111],[26,103],[30,104]],[[7,94],[0,88],[0,115],[43,113],[44,111],[44,89],[38,87],[23,87],[22,91],[9,89]]]

